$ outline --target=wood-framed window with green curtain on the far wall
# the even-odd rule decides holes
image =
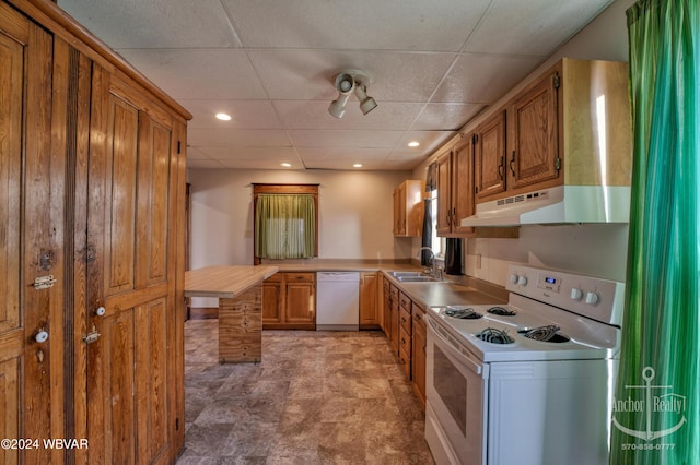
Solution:
[[[318,255],[318,186],[254,184],[254,263]]]

